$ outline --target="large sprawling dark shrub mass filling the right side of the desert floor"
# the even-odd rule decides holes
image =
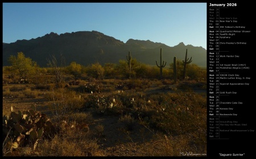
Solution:
[[[207,102],[200,94],[177,92],[141,97],[135,93],[123,93],[120,100],[123,106],[133,109],[130,111],[131,114],[138,116],[143,124],[160,132],[169,132],[173,135],[199,135],[206,132]]]

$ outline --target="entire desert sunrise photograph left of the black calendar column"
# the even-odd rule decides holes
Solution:
[[[2,3],[3,157],[207,156],[206,3]]]

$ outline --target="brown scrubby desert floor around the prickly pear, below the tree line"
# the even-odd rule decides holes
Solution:
[[[10,137],[9,144],[3,143],[3,156],[207,154],[205,82],[80,81],[69,87],[3,83],[3,116],[11,119],[12,111],[35,107],[56,128],[55,135],[43,135],[36,148],[14,146],[15,136]],[[81,128],[84,123],[89,131]]]

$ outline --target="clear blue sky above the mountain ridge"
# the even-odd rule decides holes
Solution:
[[[207,49],[207,3],[3,3],[3,43],[55,32],[98,31]]]

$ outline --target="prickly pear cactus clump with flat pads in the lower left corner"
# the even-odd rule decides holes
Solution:
[[[10,117],[3,116],[3,145],[6,149],[16,149],[32,144],[36,148],[42,137],[53,136],[56,133],[55,126],[46,114],[35,111],[11,111]]]

